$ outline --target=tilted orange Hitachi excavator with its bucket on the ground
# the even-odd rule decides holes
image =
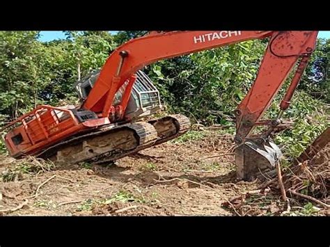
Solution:
[[[272,133],[313,54],[317,31],[150,31],[120,45],[101,70],[75,84],[79,106],[40,105],[3,127],[6,147],[16,159],[30,155],[68,164],[107,164],[177,138],[191,128],[189,118],[150,117],[162,104],[143,67],[256,39],[267,39],[267,49],[256,80],[233,113],[237,177],[251,181],[261,170],[274,170],[283,156]],[[262,120],[292,71],[277,117]],[[256,127],[264,130],[256,134]]]

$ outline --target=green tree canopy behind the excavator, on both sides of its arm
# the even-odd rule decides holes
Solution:
[[[74,83],[104,64],[118,45],[146,31],[65,31],[65,40],[40,42],[38,31],[0,32],[0,114],[17,118],[37,104],[77,100]],[[201,51],[144,70],[171,111],[188,111],[207,124],[226,124],[256,77],[267,40]],[[329,102],[330,40],[317,49],[299,86]]]

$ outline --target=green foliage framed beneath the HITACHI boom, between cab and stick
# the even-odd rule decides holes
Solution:
[[[206,124],[226,124],[246,95],[265,52],[262,40],[201,51],[148,67],[174,111],[189,111]]]

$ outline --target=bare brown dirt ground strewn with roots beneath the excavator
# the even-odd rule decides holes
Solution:
[[[22,173],[17,181],[0,182],[0,215],[233,215],[221,203],[260,186],[258,180],[237,182],[233,136],[207,131],[187,139],[109,166]],[[15,166],[1,157],[0,173]]]

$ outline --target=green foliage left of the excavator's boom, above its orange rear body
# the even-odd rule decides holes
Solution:
[[[44,43],[36,31],[0,32],[0,113],[17,118],[37,104],[77,100],[78,71],[84,77],[102,67],[116,43],[105,31],[69,33]]]

